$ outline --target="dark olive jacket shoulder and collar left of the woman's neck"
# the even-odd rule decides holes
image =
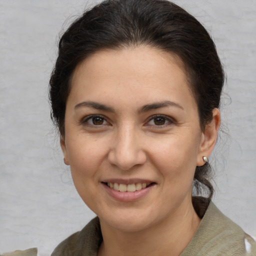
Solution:
[[[51,256],[96,255],[102,236],[99,219],[93,218],[81,231],[60,242]]]

